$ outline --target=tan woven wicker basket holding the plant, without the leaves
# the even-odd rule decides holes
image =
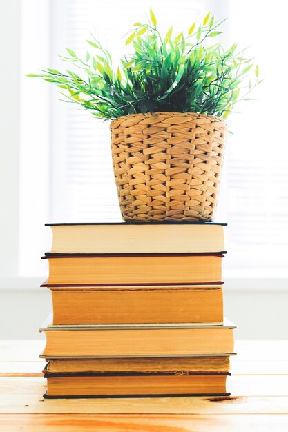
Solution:
[[[223,119],[191,112],[113,120],[113,168],[123,219],[212,221],[226,131]]]

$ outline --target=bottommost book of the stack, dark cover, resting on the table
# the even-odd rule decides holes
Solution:
[[[47,392],[44,397],[227,395],[227,375],[230,374],[46,374]]]

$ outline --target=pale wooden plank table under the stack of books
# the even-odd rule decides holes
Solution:
[[[2,432],[288,431],[288,341],[237,341],[231,397],[44,400],[44,341],[0,341]]]

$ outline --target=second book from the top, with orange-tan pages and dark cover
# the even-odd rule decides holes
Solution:
[[[60,255],[46,253],[42,286],[102,284],[219,284],[222,254]]]

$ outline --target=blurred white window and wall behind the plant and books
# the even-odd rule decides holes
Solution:
[[[0,338],[44,337],[50,293],[45,222],[119,221],[109,122],[64,104],[25,74],[64,70],[66,47],[86,54],[90,32],[115,65],[123,36],[150,6],[175,34],[207,12],[224,19],[224,45],[255,57],[265,81],[229,117],[216,222],[228,222],[224,310],[236,337],[288,337],[287,9],[285,0],[9,0],[1,2]],[[179,30],[179,31],[178,31]],[[90,47],[93,49],[92,47]],[[97,197],[97,199],[95,199]]]

